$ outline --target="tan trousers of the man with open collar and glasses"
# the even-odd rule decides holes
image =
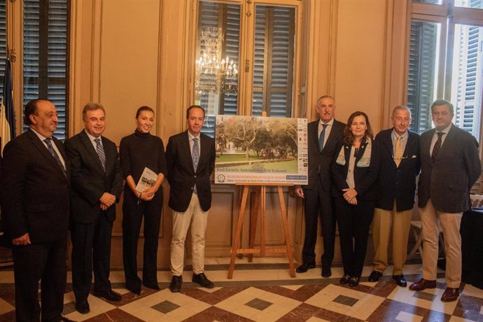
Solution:
[[[374,209],[372,219],[372,241],[374,242],[374,271],[383,273],[387,267],[387,253],[391,225],[393,228],[393,275],[401,275],[402,267],[407,258],[407,239],[411,226],[412,209],[396,211],[395,202],[393,210]]]

